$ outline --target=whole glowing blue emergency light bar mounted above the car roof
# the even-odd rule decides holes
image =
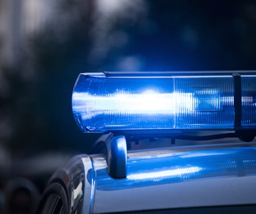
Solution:
[[[254,130],[256,74],[84,73],[72,110],[82,132]]]

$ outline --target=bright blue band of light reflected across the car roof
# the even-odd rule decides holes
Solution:
[[[88,171],[90,180],[92,171]],[[96,171],[96,187],[115,191],[152,185],[256,175],[255,148],[180,152],[169,156],[128,158],[127,177],[112,179],[107,169]]]

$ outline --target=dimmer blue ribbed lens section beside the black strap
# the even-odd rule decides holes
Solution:
[[[233,77],[175,78],[178,94],[192,94],[192,108],[177,106],[176,128],[233,128]],[[181,109],[182,108],[182,109]]]

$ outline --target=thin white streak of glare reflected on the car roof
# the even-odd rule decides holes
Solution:
[[[138,174],[130,174],[127,175],[127,179],[136,179],[136,181],[138,180],[145,180],[145,179],[163,179],[165,177],[173,177],[173,176],[177,176],[180,175],[180,177],[182,177],[182,175],[188,175],[191,173],[198,173],[199,171],[201,171],[202,168],[200,167],[186,167],[183,169],[169,169],[169,170],[165,170],[165,171],[155,171],[155,172],[148,172],[148,173],[138,173]]]

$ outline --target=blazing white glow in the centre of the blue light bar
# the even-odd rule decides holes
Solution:
[[[114,111],[124,114],[176,114],[176,112],[194,109],[192,93],[159,93],[145,90],[141,94],[116,92],[107,96],[97,96],[88,93],[73,94],[75,110],[86,109],[94,111]]]

